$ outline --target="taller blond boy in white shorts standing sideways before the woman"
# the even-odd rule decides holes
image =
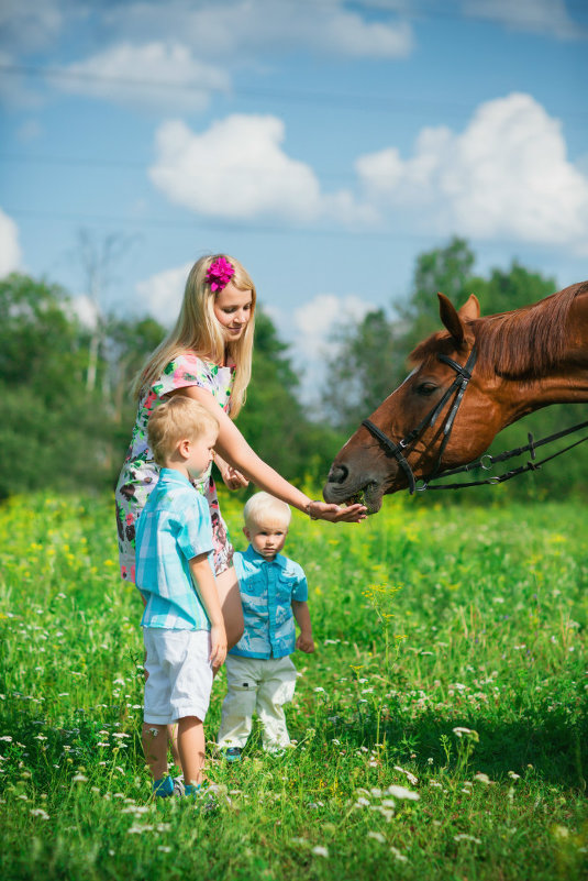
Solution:
[[[195,796],[202,783],[213,667],[225,659],[226,635],[211,568],[209,506],[190,478],[210,464],[219,426],[200,404],[177,396],[153,411],[147,431],[162,471],[136,531],[147,673],[143,748],[155,795],[173,795],[167,725],[177,722],[184,791]]]

